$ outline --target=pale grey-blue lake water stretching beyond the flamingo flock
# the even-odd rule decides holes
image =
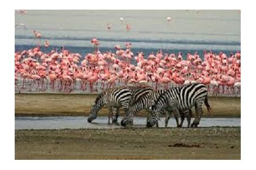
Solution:
[[[166,17],[171,16],[168,23]],[[120,18],[124,18],[124,23]],[[125,47],[132,43],[136,54],[146,55],[162,49],[168,53],[184,54],[203,50],[214,53],[223,51],[227,55],[240,51],[241,21],[237,10],[28,10],[27,15],[15,14],[15,24],[23,23],[28,29],[15,29],[15,51],[27,50],[39,42],[33,30],[42,34],[53,47],[65,49],[84,56],[92,53],[92,38],[100,42],[99,50],[115,52],[114,46]],[[106,24],[111,24],[111,30]],[[131,31],[126,30],[131,25]]]

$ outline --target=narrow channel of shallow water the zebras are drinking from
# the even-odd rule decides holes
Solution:
[[[93,123],[88,123],[85,116],[59,116],[59,117],[15,117],[15,129],[114,129],[123,128],[119,117],[117,124],[107,124],[108,117],[97,117]],[[193,120],[193,119],[192,119]],[[186,120],[183,127],[186,127]],[[135,117],[133,127],[145,127],[145,117]],[[240,127],[240,118],[202,118],[199,127]],[[159,121],[159,127],[164,127],[164,118]],[[169,120],[168,127],[176,127],[176,122],[172,118]]]

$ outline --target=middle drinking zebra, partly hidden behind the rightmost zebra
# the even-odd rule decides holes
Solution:
[[[140,93],[143,92],[143,93]],[[158,99],[158,97],[160,96],[160,94],[164,93],[164,90],[153,90],[151,88],[147,88],[144,91],[134,91],[134,93],[132,94],[132,99],[129,102],[129,110],[127,112],[127,115],[123,118],[123,120],[121,121],[121,125],[122,126],[126,126],[126,125],[132,125],[133,124],[133,116],[137,114],[137,112],[141,111],[141,110],[147,110],[149,112],[149,114],[151,114],[151,110],[149,109],[150,106],[153,104],[153,101],[156,101]],[[164,112],[164,110],[160,111],[162,114]],[[181,115],[181,124],[179,126],[182,126],[183,121],[186,117],[187,121],[188,121],[188,127],[190,125],[190,120],[191,120],[191,115],[192,112],[191,110],[189,111],[180,111],[180,115]],[[147,120],[149,119],[149,115],[147,115]],[[158,127],[158,121],[157,123],[157,127]]]

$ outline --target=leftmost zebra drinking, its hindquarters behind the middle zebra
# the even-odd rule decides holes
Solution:
[[[127,86],[103,91],[97,95],[95,103],[90,110],[88,122],[91,123],[92,120],[96,119],[98,111],[101,110],[101,108],[105,105],[109,108],[109,123],[110,117],[112,119],[113,112],[114,120],[112,119],[112,123],[117,122],[119,116],[119,108],[123,107],[126,114],[129,108],[129,102],[132,98],[132,94],[143,94],[143,91],[146,91],[147,89],[149,88],[140,86]],[[137,100],[139,97],[140,95],[136,95],[134,100]]]

